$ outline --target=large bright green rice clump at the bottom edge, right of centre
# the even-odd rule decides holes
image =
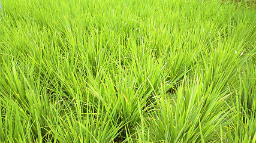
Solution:
[[[214,141],[220,131],[219,125],[225,126],[235,117],[228,119],[231,114],[225,105],[225,99],[230,96],[228,91],[215,91],[213,84],[206,88],[207,84],[199,79],[183,83],[176,96],[161,96],[159,110],[147,119],[152,132],[150,141]]]

